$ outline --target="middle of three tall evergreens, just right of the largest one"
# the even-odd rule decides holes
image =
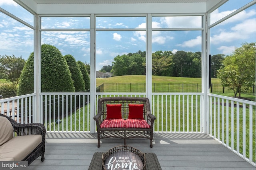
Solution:
[[[74,82],[75,92],[84,92],[84,80],[82,72],[78,64],[76,63],[76,59],[72,55],[65,55],[64,57],[68,63],[68,68],[70,70],[71,77]]]

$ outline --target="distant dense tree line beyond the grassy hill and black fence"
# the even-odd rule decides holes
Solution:
[[[201,52],[156,51],[152,53],[152,74],[156,76],[201,77]],[[212,56],[212,77],[222,66],[225,55]],[[146,51],[117,55],[112,65],[103,66],[101,72],[111,72],[114,76],[145,75]]]

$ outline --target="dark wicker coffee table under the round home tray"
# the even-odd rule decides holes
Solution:
[[[104,152],[95,152],[88,170],[102,170],[102,154]],[[145,153],[146,170],[162,170],[155,153]]]

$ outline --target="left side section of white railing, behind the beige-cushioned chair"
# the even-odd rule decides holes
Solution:
[[[36,94],[27,94],[0,100],[1,113],[12,117],[18,123],[33,123],[37,115],[33,115]]]

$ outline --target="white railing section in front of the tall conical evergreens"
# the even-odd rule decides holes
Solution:
[[[41,93],[41,119],[48,132],[90,132],[90,93]]]

